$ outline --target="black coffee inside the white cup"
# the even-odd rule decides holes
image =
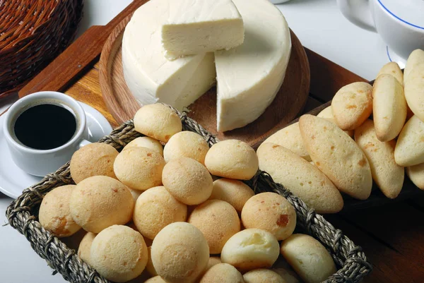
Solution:
[[[38,104],[20,114],[13,129],[23,145],[51,150],[71,140],[76,131],[76,118],[64,107]]]

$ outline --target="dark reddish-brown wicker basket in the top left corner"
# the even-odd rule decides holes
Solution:
[[[19,90],[72,42],[83,0],[0,1],[0,98]]]

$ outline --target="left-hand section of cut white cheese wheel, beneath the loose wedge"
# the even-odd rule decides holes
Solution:
[[[122,39],[126,85],[140,104],[163,102],[182,110],[215,83],[213,54],[168,61],[161,44],[161,26],[172,0],[148,1],[134,13]]]

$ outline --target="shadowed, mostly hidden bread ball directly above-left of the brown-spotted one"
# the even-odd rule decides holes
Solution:
[[[222,178],[213,181],[212,194],[209,199],[224,200],[240,213],[247,200],[252,196],[254,196],[254,191],[242,181]]]

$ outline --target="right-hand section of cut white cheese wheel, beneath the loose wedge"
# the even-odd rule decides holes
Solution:
[[[233,0],[245,23],[245,42],[215,52],[218,131],[256,120],[283,83],[290,59],[290,30],[268,0]]]

